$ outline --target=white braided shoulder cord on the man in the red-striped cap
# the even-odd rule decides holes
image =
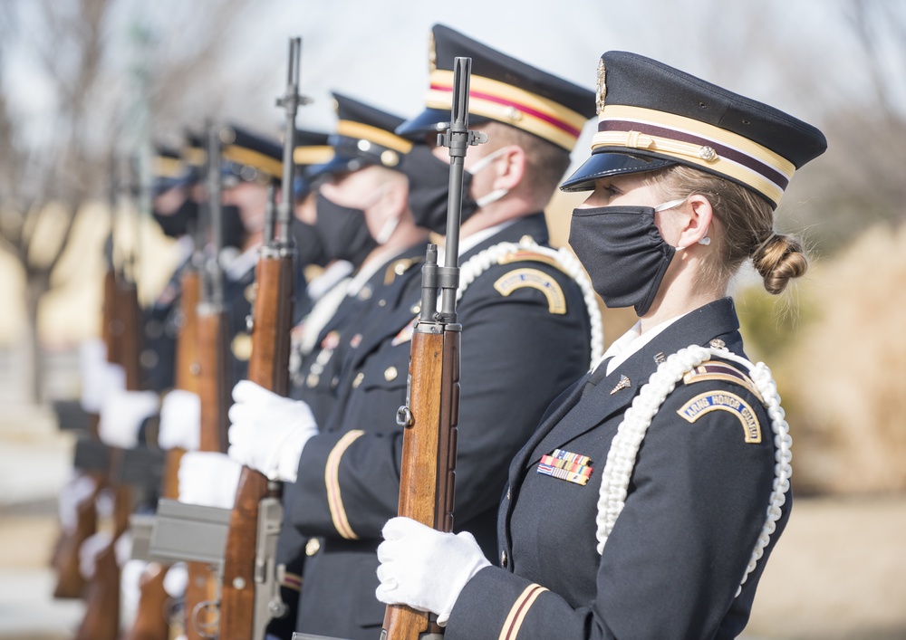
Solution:
[[[499,264],[500,260],[510,253],[517,251],[531,251],[540,253],[551,258],[560,265],[563,271],[579,285],[582,290],[582,297],[585,301],[585,307],[588,310],[588,318],[592,326],[592,358],[591,364],[601,358],[604,350],[604,331],[601,320],[601,308],[594,297],[592,282],[582,268],[582,264],[576,257],[566,249],[554,250],[549,247],[539,246],[531,238],[525,238],[516,243],[500,243],[487,247],[484,251],[478,252],[469,258],[462,266],[459,267],[459,289],[457,291],[457,301],[462,298],[463,291],[466,291],[468,285],[475,279],[486,272],[491,265]]]

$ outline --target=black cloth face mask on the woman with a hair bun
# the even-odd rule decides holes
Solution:
[[[608,307],[651,309],[676,249],[664,242],[651,206],[575,209],[569,244]]]

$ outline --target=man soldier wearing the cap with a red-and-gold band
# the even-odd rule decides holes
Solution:
[[[546,247],[542,214],[593,113],[593,94],[445,27],[434,29],[434,43],[431,83],[439,88],[429,93],[429,110],[397,132],[420,143],[427,132],[447,126],[449,70],[455,55],[470,56],[470,126],[487,132],[490,142],[470,148],[465,164],[456,523],[477,531],[494,555],[506,460],[550,400],[588,368],[593,342],[601,341],[593,291],[573,278],[581,272],[577,263]],[[479,94],[487,99],[478,100]],[[440,231],[448,165],[424,144],[415,144],[405,163],[416,221]],[[316,435],[313,420],[292,426],[231,420],[231,455],[272,477],[295,480],[284,506],[285,520],[309,538],[297,622],[305,633],[380,633],[384,607],[373,593],[375,549],[399,501],[402,430],[395,416],[405,403],[419,303],[415,291],[408,304],[375,316],[361,340],[352,336],[333,413]],[[234,409],[247,405],[243,415],[267,414],[256,402],[237,400]],[[506,419],[513,416],[518,419]],[[251,433],[255,438],[246,437]],[[280,470],[262,469],[274,442],[284,444],[283,452],[292,443],[302,454],[287,454]]]

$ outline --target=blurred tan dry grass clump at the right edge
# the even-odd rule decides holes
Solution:
[[[814,273],[778,368],[800,488],[906,490],[904,247],[906,226],[874,227]]]

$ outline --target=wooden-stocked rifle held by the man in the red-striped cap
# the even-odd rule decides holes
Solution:
[[[293,206],[295,114],[299,96],[299,49],[289,46],[285,95],[277,105],[286,113],[281,202],[274,228],[265,235],[255,271],[257,289],[252,307],[252,355],[248,379],[285,396],[289,390],[290,330],[293,324],[295,249],[290,235]],[[270,226],[270,225],[268,225]],[[220,637],[259,639],[272,617],[284,616],[275,576],[275,548],[283,507],[279,485],[244,467],[236,489],[224,552]]]

